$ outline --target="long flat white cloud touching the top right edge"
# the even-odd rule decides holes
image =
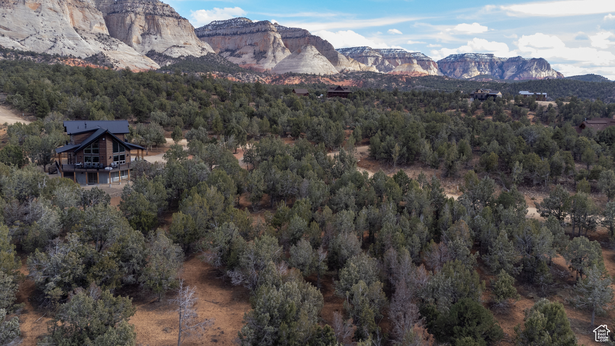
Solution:
[[[558,17],[563,15],[598,14],[615,11],[613,0],[571,0],[551,2],[531,2],[502,6],[509,10],[509,15],[538,15],[542,17]],[[515,13],[516,12],[516,13]]]

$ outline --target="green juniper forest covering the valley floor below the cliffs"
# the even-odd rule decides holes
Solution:
[[[504,332],[492,311],[519,299],[517,283],[551,296],[558,255],[576,275],[565,304],[593,324],[613,299],[601,245],[587,235],[606,227],[614,236],[615,127],[574,126],[612,117],[615,103],[544,107],[505,94],[481,104],[462,92],[356,88],[320,99],[325,89],[297,97],[288,86],[181,71],[7,60],[0,89],[38,117],[6,127],[0,150],[2,345],[20,334],[23,280],[51,316],[39,345],[136,345],[135,289],[159,301],[179,293],[180,318],[195,323],[180,320],[181,344],[183,331],[211,324],[197,321],[194,289],[179,278],[191,255],[249,290],[237,336],[245,346],[494,345]],[[151,150],[167,132],[176,144],[165,163],[133,162],[115,207],[100,188],[45,172],[67,140],[66,119],[130,119],[130,141]],[[358,171],[355,147],[367,143],[383,167],[423,172]],[[459,198],[446,197],[445,177],[462,180]],[[541,219],[526,218],[519,188],[531,187],[549,193],[536,203]],[[330,321],[320,317],[323,286],[343,301]],[[509,338],[577,344],[565,305],[546,298]]]

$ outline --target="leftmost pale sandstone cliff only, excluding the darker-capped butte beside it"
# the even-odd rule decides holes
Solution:
[[[101,12],[81,0],[0,0],[0,45],[39,53],[98,55],[117,68],[159,68],[145,55],[117,39]]]

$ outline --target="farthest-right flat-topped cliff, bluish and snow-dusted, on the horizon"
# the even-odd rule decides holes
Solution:
[[[438,60],[440,71],[453,78],[491,74],[500,79],[563,78],[544,58],[498,58],[493,54],[451,54]]]

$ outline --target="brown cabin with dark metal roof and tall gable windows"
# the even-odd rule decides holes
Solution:
[[[76,183],[121,183],[122,178],[130,179],[130,163],[138,159],[138,150],[143,159],[145,148],[127,142],[126,120],[65,121],[64,130],[71,139],[55,150],[59,162],[50,172],[58,171]]]

